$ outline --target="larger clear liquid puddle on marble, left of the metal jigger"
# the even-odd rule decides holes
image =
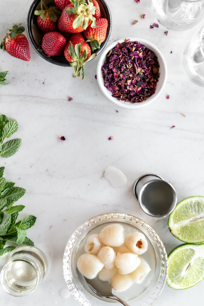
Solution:
[[[120,188],[127,184],[127,177],[121,172],[120,169],[108,166],[103,171],[103,177],[110,183],[114,188]]]

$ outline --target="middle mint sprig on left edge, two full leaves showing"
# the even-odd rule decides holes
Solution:
[[[9,120],[6,115],[0,116],[0,156],[9,157],[18,151],[21,139],[12,139],[4,143],[13,133],[17,132],[18,123],[15,119]]]

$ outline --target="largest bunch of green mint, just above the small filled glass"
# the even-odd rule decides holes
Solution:
[[[24,209],[24,205],[13,204],[25,193],[25,189],[15,187],[13,182],[6,182],[3,177],[5,167],[0,167],[0,258],[13,251],[15,246],[4,247],[7,241],[16,244],[34,245],[26,237],[26,231],[35,224],[36,217],[29,215],[27,218],[17,221],[18,214]],[[7,215],[7,217],[5,216]],[[3,220],[5,220],[3,222]]]

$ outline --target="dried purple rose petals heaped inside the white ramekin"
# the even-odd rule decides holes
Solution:
[[[104,86],[118,100],[143,102],[155,93],[159,62],[153,51],[125,39],[110,50],[102,65]]]

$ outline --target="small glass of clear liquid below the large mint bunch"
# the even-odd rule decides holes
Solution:
[[[28,295],[42,282],[47,269],[47,258],[39,248],[18,248],[1,271],[3,289],[15,297]]]

